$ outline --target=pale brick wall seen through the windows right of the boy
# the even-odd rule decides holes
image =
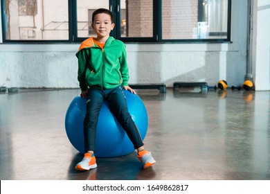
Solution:
[[[153,1],[128,1],[128,37],[152,37]],[[163,39],[192,38],[197,30],[198,0],[162,1]]]

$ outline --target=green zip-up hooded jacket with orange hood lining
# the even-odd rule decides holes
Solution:
[[[112,89],[118,85],[127,86],[127,53],[120,40],[109,37],[104,48],[100,48],[93,42],[93,37],[89,37],[80,45],[76,57],[82,91],[89,87]]]

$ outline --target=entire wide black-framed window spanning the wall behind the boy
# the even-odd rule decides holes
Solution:
[[[82,42],[97,8],[123,42],[229,42],[231,0],[1,0],[3,42]]]

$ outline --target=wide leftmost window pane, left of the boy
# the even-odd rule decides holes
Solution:
[[[4,1],[6,39],[69,39],[68,1]]]

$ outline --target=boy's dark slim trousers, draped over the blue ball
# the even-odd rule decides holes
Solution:
[[[134,148],[137,149],[143,146],[138,128],[127,110],[123,87],[118,86],[114,89],[105,90],[89,88],[87,94],[87,111],[84,117],[85,152],[95,150],[96,127],[100,108],[104,100],[107,100],[111,113],[114,114],[118,123],[120,123],[125,132],[127,132],[127,136],[129,136],[129,139],[132,141]]]

